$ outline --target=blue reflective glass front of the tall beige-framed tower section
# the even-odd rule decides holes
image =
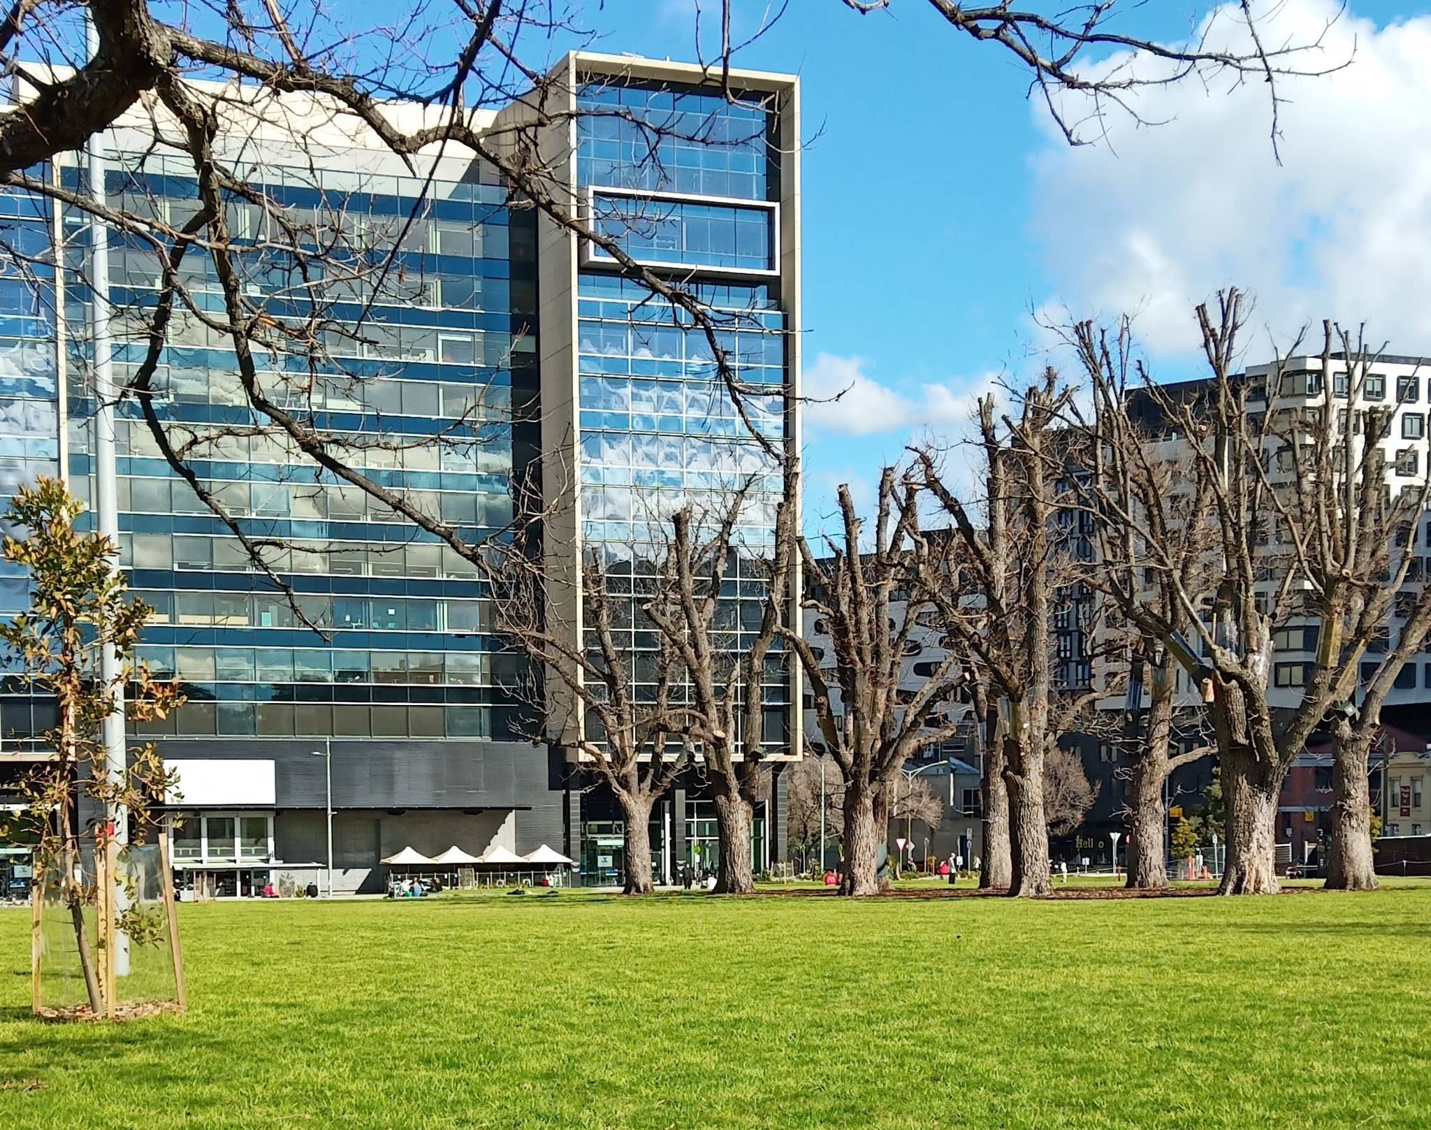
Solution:
[[[747,491],[717,647],[747,649],[764,611],[783,479],[761,441],[783,446],[790,388],[777,114],[768,97],[731,104],[705,92],[600,82],[582,87],[578,107],[577,173],[594,203],[592,223],[633,257],[680,272],[731,366],[718,372],[705,328],[688,313],[602,270],[592,252],[578,275],[582,536],[604,555],[611,595],[630,601],[618,631],[630,634],[641,698],[655,691],[658,638],[640,594],[655,576],[661,524],[675,508],[714,516],[736,489]],[[738,382],[748,422],[727,376]],[[778,745],[790,732],[778,647],[764,697],[766,740]]]

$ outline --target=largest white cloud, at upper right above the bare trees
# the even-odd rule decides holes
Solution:
[[[1334,0],[1264,4],[1265,43],[1309,41]],[[1235,19],[1222,14],[1219,27]],[[1268,86],[1183,82],[1145,89],[1138,127],[1116,114],[1106,143],[1070,149],[1049,127],[1035,160],[1036,220],[1056,296],[1078,316],[1138,313],[1159,353],[1195,348],[1192,305],[1251,290],[1248,345],[1268,349],[1322,318],[1367,320],[1379,345],[1431,353],[1431,17],[1378,27],[1347,13],[1282,79],[1281,156]]]

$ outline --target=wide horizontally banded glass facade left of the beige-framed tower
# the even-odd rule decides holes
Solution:
[[[519,421],[535,406],[532,213],[509,209],[489,177],[250,175],[273,206],[230,202],[243,290],[285,330],[255,353],[263,393],[468,544],[499,534],[522,471]],[[74,170],[67,177],[80,183]],[[192,172],[162,156],[112,167],[106,192],[170,225],[196,207]],[[70,372],[87,373],[87,222],[66,215],[64,236]],[[222,310],[209,256],[190,257],[182,276],[193,303]],[[146,242],[110,233],[119,385],[145,360],[159,283]],[[155,409],[298,608],[173,473],[140,406],[122,402],[122,564],[156,609],[139,654],[189,695],[143,732],[511,737],[517,708],[502,687],[517,661],[489,634],[477,568],[298,451],[248,405],[238,369],[232,340],[180,309],[152,380]],[[72,482],[92,496],[83,380],[72,378],[69,408]]]

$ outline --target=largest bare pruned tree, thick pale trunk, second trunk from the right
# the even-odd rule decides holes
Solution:
[[[1324,326],[1319,378],[1327,392],[1345,380],[1351,411],[1342,418],[1332,395],[1308,401],[1289,386],[1288,358],[1298,345],[1264,373],[1238,372],[1239,293],[1221,295],[1215,310],[1199,306],[1198,322],[1206,382],[1191,395],[1149,383],[1143,395],[1179,436],[1205,493],[1211,575],[1198,586],[1178,579],[1175,545],[1186,529],[1153,528],[1112,491],[1100,492],[1099,505],[1115,534],[1132,531],[1148,568],[1173,582],[1198,641],[1122,591],[1122,612],[1198,685],[1206,681],[1228,805],[1221,890],[1255,894],[1278,887],[1276,802],[1286,770],[1328,712],[1351,698],[1361,658],[1385,629],[1410,572],[1410,554],[1392,565],[1394,532],[1421,515],[1431,488],[1388,489],[1378,445],[1388,412],[1355,408],[1375,360],[1359,339]],[[1274,709],[1272,637],[1288,621],[1312,622],[1315,659],[1304,685],[1288,688],[1295,705]]]

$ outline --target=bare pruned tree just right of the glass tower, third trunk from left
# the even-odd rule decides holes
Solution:
[[[840,891],[847,895],[880,891],[877,855],[889,828],[893,784],[904,762],[920,745],[959,731],[946,712],[963,681],[956,649],[946,652],[912,695],[900,694],[912,634],[920,614],[934,608],[917,493],[913,483],[900,483],[894,469],[886,468],[866,544],[864,521],[849,488],[841,486],[841,534],[826,541],[827,556],[817,556],[803,536],[797,542],[806,575],[803,606],[820,618],[833,655],[821,659],[798,629],[781,628],[810,682],[820,740],[844,785]]]

